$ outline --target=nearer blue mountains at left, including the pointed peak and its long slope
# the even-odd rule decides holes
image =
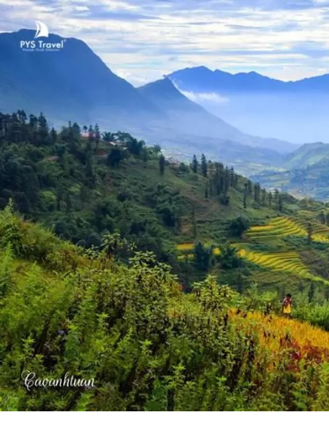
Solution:
[[[191,158],[203,151],[228,164],[269,164],[297,146],[246,135],[184,96],[169,78],[141,88],[119,78],[83,41],[65,40],[56,52],[23,51],[34,31],[0,34],[0,111],[41,110],[50,124],[98,123],[158,142],[168,154]],[[47,43],[62,37],[49,34]],[[273,150],[269,150],[273,149]],[[238,163],[239,166],[239,163]]]

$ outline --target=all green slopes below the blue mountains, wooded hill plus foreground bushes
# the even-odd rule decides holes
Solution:
[[[0,115],[0,410],[327,410],[326,206],[82,131]]]

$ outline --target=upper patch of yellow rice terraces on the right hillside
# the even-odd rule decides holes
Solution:
[[[329,244],[329,227],[312,222],[312,240]],[[285,236],[307,237],[307,221],[280,216],[271,219],[266,225],[252,226],[246,233],[250,239],[276,239]]]

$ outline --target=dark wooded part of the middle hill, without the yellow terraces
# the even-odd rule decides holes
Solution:
[[[164,256],[170,244],[174,249],[186,239],[222,240],[237,216],[257,221],[277,215],[278,199],[269,206],[268,193],[221,163],[205,158],[206,170],[198,162],[194,172],[169,160],[161,174],[159,148],[129,134],[105,133],[102,141],[95,125],[89,141],[77,124],[57,133],[49,132],[43,116],[27,121],[20,113],[14,120],[3,116],[2,123],[7,119],[0,137],[0,206],[12,198],[27,219],[82,246],[116,231]],[[286,212],[298,208],[293,198],[282,200]]]

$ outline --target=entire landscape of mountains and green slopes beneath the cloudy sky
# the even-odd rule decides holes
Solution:
[[[0,411],[328,410],[328,75],[34,40],[0,33]]]

